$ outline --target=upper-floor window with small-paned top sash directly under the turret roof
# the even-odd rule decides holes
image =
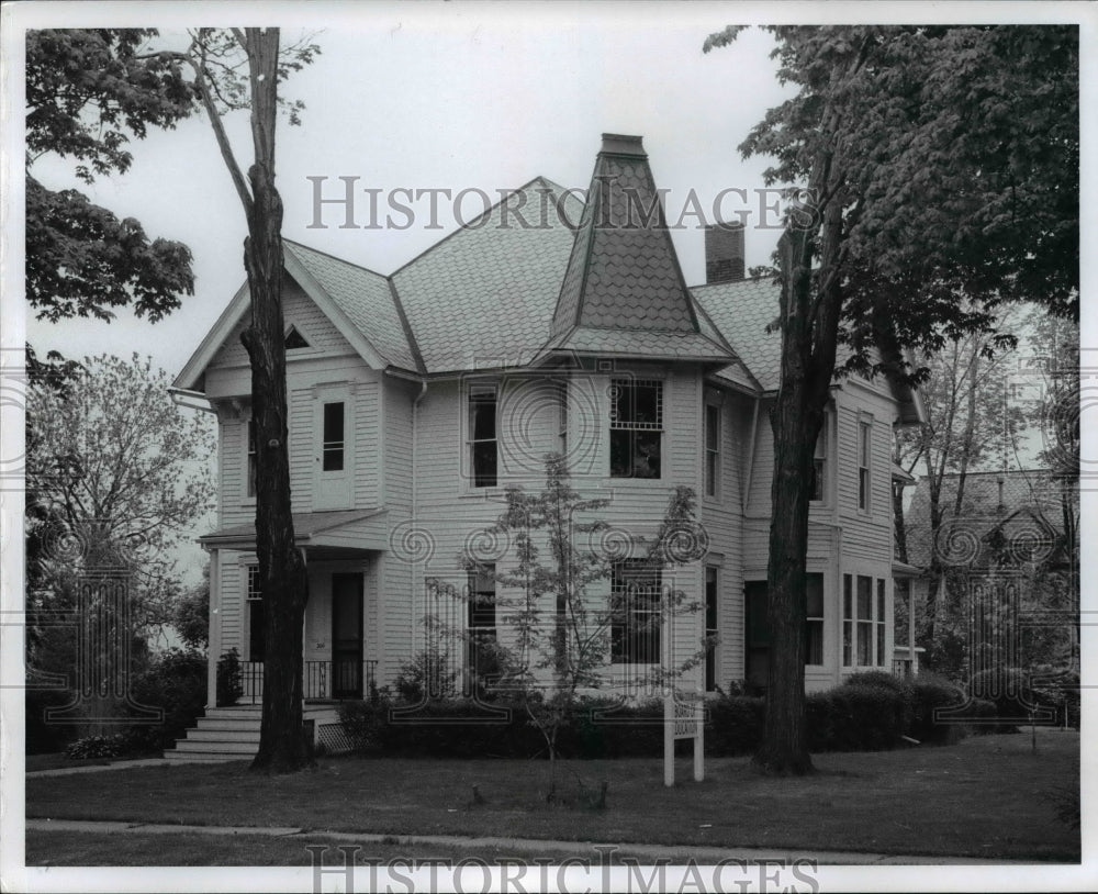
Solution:
[[[614,379],[610,383],[610,476],[659,478],[663,444],[663,382]]]

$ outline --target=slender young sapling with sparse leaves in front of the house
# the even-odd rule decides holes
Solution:
[[[545,488],[538,493],[507,488],[505,511],[484,532],[489,540],[507,545],[497,561],[486,565],[481,555],[459,557],[471,574],[486,574],[496,584],[494,606],[503,635],[485,639],[477,630],[445,625],[437,617],[428,617],[427,624],[463,640],[471,653],[491,657],[495,680],[489,685],[514,699],[545,739],[551,802],[559,737],[581,709],[583,697],[613,694],[623,685],[615,682],[610,668],[616,658],[637,658],[629,655],[629,644],[645,644],[641,660],[659,662],[661,635],[671,635],[675,618],[699,611],[699,602],[687,591],[664,584],[662,572],[696,562],[708,540],[696,521],[690,488],[672,491],[663,518],[646,538],[594,517],[609,501],[583,499],[572,488],[560,454],[546,457],[545,470]],[[613,546],[600,547],[606,541]],[[628,578],[616,582],[623,585],[610,586],[607,594],[605,584],[615,563],[630,551],[623,541],[640,555],[630,562]],[[474,607],[482,599],[437,579],[428,585]],[[706,646],[699,639],[688,656],[675,658],[673,667],[649,663],[625,685],[661,692],[704,658]]]

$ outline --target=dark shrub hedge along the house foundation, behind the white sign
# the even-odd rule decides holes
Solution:
[[[721,695],[706,703],[706,753],[747,755],[762,736],[765,700]],[[943,722],[937,709],[950,708]],[[954,741],[966,719],[990,716],[989,702],[968,700],[943,681],[907,682],[883,672],[856,674],[807,699],[813,751],[866,751],[894,748],[903,736],[920,742]],[[663,708],[658,702],[621,707],[581,703],[558,734],[565,758],[658,757],[663,753]],[[435,701],[410,706],[400,701],[347,702],[340,719],[358,753],[436,758],[536,758],[548,747],[518,704]],[[683,746],[688,747],[688,742]]]

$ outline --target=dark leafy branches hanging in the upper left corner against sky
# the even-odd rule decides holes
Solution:
[[[194,110],[179,66],[146,57],[150,30],[53,29],[26,35],[26,297],[40,319],[110,320],[132,305],[156,322],[193,292],[186,245],[149,238],[75,189],[51,190],[32,175],[55,154],[85,183],[124,174],[131,137],[173,127]]]

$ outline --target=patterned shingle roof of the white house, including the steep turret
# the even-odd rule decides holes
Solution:
[[[604,134],[586,203],[538,177],[389,277],[289,239],[287,269],[371,365],[440,375],[559,355],[643,357],[706,364],[740,388],[774,391],[781,337],[766,327],[778,287],[688,289],[659,198],[640,137]],[[245,288],[177,387],[200,385],[247,301]]]

